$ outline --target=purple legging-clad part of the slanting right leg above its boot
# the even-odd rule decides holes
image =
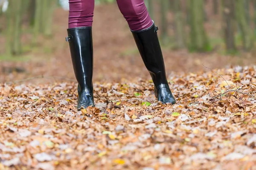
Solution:
[[[152,26],[144,0],[116,0],[131,30],[139,31]]]

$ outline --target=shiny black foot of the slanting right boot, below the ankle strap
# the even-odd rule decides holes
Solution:
[[[171,103],[174,105],[176,103],[175,98],[169,88],[160,88],[158,91],[158,101],[162,103]]]

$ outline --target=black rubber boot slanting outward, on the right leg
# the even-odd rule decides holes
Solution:
[[[143,62],[154,82],[154,92],[158,101],[175,104],[169,88],[163,54],[157,37],[157,26],[154,24],[145,30],[131,31]]]

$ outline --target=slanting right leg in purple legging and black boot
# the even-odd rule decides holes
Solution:
[[[158,28],[150,18],[144,0],[117,0],[117,4],[128,22],[143,62],[152,77],[157,100],[175,104],[166,78],[163,54],[157,37]]]

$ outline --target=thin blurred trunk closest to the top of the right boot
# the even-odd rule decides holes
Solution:
[[[169,41],[168,37],[168,24],[167,24],[167,13],[169,10],[169,2],[168,0],[160,0],[160,7],[161,7],[161,41],[163,44],[167,44]]]

